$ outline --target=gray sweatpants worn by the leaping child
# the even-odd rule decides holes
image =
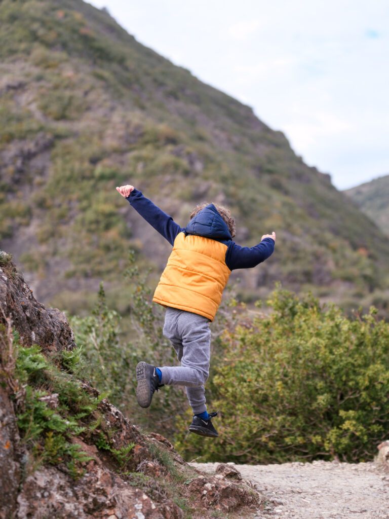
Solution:
[[[197,313],[166,309],[163,335],[170,339],[181,366],[160,367],[161,384],[185,386],[193,414],[206,411],[204,384],[210,372],[209,319]]]

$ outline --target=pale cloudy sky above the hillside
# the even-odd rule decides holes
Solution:
[[[93,0],[346,189],[389,174],[387,0]]]

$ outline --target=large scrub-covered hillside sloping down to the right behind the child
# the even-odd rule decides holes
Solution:
[[[153,283],[169,253],[115,190],[133,183],[177,223],[198,202],[228,205],[236,240],[277,233],[241,271],[240,295],[281,280],[352,308],[389,284],[389,239],[281,132],[80,0],[0,3],[0,246],[37,296],[78,313],[101,279],[127,311],[130,249]]]

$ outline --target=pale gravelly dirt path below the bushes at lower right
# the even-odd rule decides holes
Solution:
[[[218,463],[192,465],[208,472]],[[266,498],[265,508],[253,518],[389,519],[389,474],[374,463],[314,461],[235,467]]]

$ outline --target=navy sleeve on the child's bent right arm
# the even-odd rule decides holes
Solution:
[[[226,264],[230,270],[252,268],[267,260],[274,251],[274,240],[263,239],[254,247],[241,247],[232,242],[226,253]]]

